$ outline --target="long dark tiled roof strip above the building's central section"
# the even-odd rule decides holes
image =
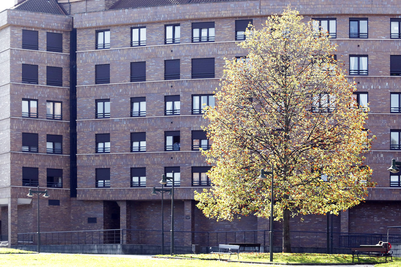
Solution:
[[[109,9],[140,8],[146,6],[166,6],[176,4],[197,4],[213,2],[229,2],[235,0],[119,0]]]

